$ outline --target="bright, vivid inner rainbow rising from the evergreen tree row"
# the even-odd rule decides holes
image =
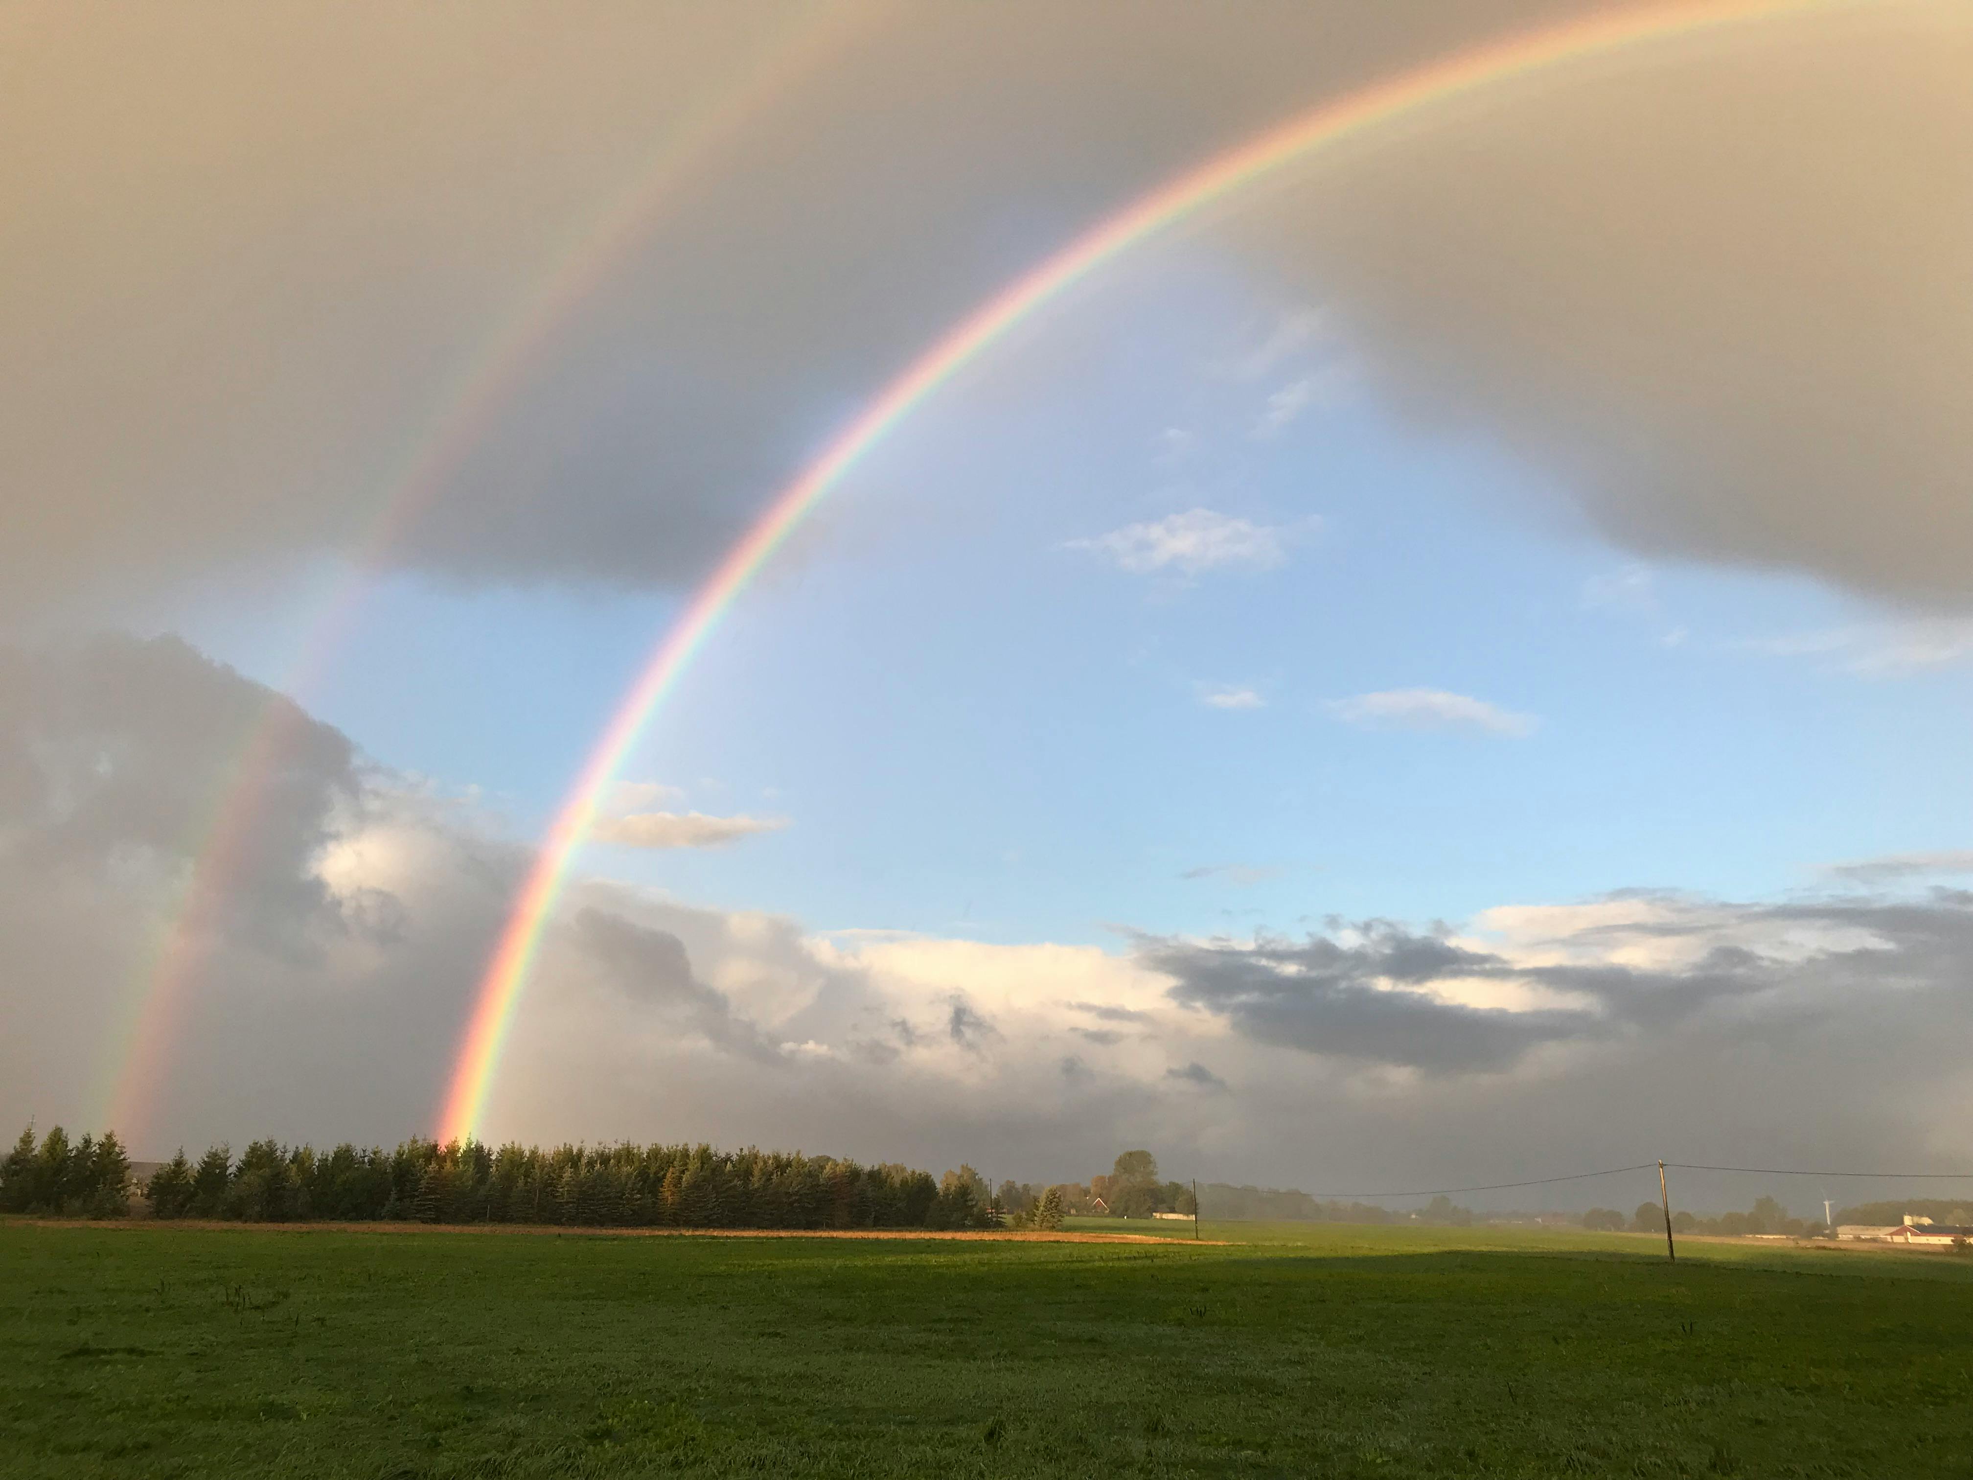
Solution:
[[[1000,339],[1026,316],[1081,282],[1133,245],[1170,229],[1204,207],[1253,184],[1312,150],[1338,144],[1415,109],[1442,103],[1482,87],[1507,83],[1563,61],[1616,51],[1640,41],[1695,34],[1752,22],[1782,12],[1855,4],[1857,0],[1717,0],[1715,4],[1659,4],[1594,16],[1509,36],[1454,57],[1428,63],[1383,83],[1324,103],[1257,138],[1219,154],[1160,185],[1117,215],[1101,221],[1060,253],[1002,288],[973,310],[937,343],[912,361],[787,487],[754,527],[728,551],[691,606],[673,622],[616,718],[568,791],[541,852],[515,898],[499,943],[487,963],[472,1018],[466,1026],[452,1081],[440,1115],[440,1141],[466,1139],[479,1125],[493,1073],[499,1068],[515,1006],[541,947],[543,927],[568,874],[570,860],[596,819],[637,736],[649,724],[693,657],[704,647],[720,616],[748,586],[767,556],[837,483],[925,397],[949,381],[975,355]]]

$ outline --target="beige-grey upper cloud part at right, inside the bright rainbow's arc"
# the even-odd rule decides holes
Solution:
[[[1567,527],[1965,612],[1969,47],[1951,0],[1638,47],[1229,233],[1282,302],[1320,294],[1369,397],[1503,446]]]

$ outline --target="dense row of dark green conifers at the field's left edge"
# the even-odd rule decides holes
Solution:
[[[255,1141],[191,1160],[180,1150],[140,1186],[114,1133],[71,1143],[32,1129],[0,1160],[0,1212],[122,1218],[140,1194],[152,1218],[586,1227],[988,1227],[971,1166],[933,1180],[910,1166],[860,1166],[801,1152],[704,1145],[499,1148],[410,1139],[397,1150],[318,1152]]]

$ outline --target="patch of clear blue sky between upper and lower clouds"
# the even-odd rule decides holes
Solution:
[[[1937,783],[1963,671],[1857,673],[1896,618],[1612,547],[1541,470],[1393,414],[1332,320],[1170,251],[988,355],[775,558],[625,770],[787,827],[594,866],[817,927],[1107,941],[1754,898],[1965,835]],[[1099,547],[1200,509],[1271,549]],[[395,578],[304,697],[529,837],[673,610]],[[264,606],[195,622],[282,679]],[[1415,689],[1507,728],[1346,708]]]

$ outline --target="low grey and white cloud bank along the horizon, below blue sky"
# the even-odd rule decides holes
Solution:
[[[101,1125],[103,1024],[132,1018],[225,758],[270,703],[286,701],[174,641],[0,645],[0,1123]],[[278,712],[251,866],[150,1046],[158,1111],[118,1127],[144,1156],[426,1129],[533,860],[470,801]],[[1630,890],[1123,949],[819,935],[576,874],[485,1131],[935,1170],[990,1154],[1024,1180],[1087,1176],[1129,1145],[1180,1176],[1277,1186],[1665,1152],[1890,1168],[1949,1154],[1973,1113],[1973,892],[1924,888],[1963,864],[1839,864],[1857,894]],[[1192,1066],[1237,1093],[1190,1093],[1213,1089]]]

